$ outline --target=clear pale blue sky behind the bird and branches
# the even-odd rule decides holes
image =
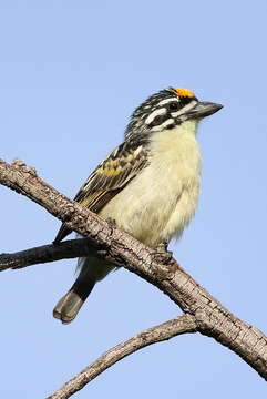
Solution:
[[[73,197],[153,92],[192,89],[224,104],[203,121],[197,215],[177,260],[238,317],[267,331],[266,1],[0,0],[0,157],[23,160]],[[60,222],[0,186],[0,252],[53,241]],[[44,398],[99,355],[181,314],[127,270],[79,318],[51,316],[73,260],[0,275],[1,397]],[[213,339],[177,337],[127,357],[75,398],[266,395],[266,382]]]

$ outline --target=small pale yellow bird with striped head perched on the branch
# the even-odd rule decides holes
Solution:
[[[222,108],[199,101],[188,89],[167,88],[148,96],[130,117],[122,144],[90,174],[74,201],[151,248],[181,237],[198,203],[197,127]],[[63,223],[53,243],[70,233]],[[53,316],[71,323],[95,284],[115,268],[93,253],[79,258],[78,278]]]

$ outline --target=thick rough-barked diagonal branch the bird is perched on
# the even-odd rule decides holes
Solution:
[[[264,334],[230,314],[166,253],[157,254],[126,233],[113,229],[97,215],[45,184],[22,162],[9,165],[0,161],[0,182],[68,222],[71,229],[102,248],[99,255],[105,259],[154,284],[185,313],[195,316],[199,332],[234,350],[267,379],[267,338]]]

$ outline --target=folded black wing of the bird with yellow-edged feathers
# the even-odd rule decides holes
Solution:
[[[122,143],[92,172],[74,201],[99,213],[147,163],[147,147],[144,142]],[[54,243],[59,243],[70,233],[71,229],[63,223]]]

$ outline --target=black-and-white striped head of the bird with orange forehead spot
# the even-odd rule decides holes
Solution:
[[[125,131],[125,139],[131,139],[135,134],[174,129],[185,121],[212,115],[222,106],[210,102],[199,102],[187,89],[161,90],[134,111]]]

